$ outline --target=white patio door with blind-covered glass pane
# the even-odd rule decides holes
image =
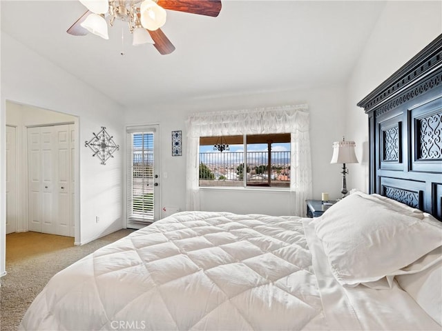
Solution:
[[[127,227],[142,228],[159,219],[158,126],[128,127]]]

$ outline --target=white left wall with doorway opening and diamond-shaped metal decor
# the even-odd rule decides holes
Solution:
[[[5,271],[5,124],[6,101],[72,114],[79,118],[79,226],[75,241],[86,243],[123,227],[122,165],[124,125],[122,108],[8,34],[1,32],[0,102],[0,274]],[[120,144],[115,159],[101,165],[84,141],[106,126]],[[95,222],[99,216],[99,223]],[[77,224],[76,224],[77,225]]]

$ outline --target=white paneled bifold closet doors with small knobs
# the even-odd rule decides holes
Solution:
[[[29,230],[73,236],[73,126],[28,128]]]

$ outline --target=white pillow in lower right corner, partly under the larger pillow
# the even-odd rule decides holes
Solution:
[[[398,275],[396,280],[434,321],[442,325],[442,247],[403,270],[410,272],[416,268],[421,269],[423,265],[430,267],[420,272]]]

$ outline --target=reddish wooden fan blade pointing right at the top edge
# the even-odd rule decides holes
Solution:
[[[164,9],[211,17],[217,17],[221,10],[220,0],[158,0],[157,4]]]

